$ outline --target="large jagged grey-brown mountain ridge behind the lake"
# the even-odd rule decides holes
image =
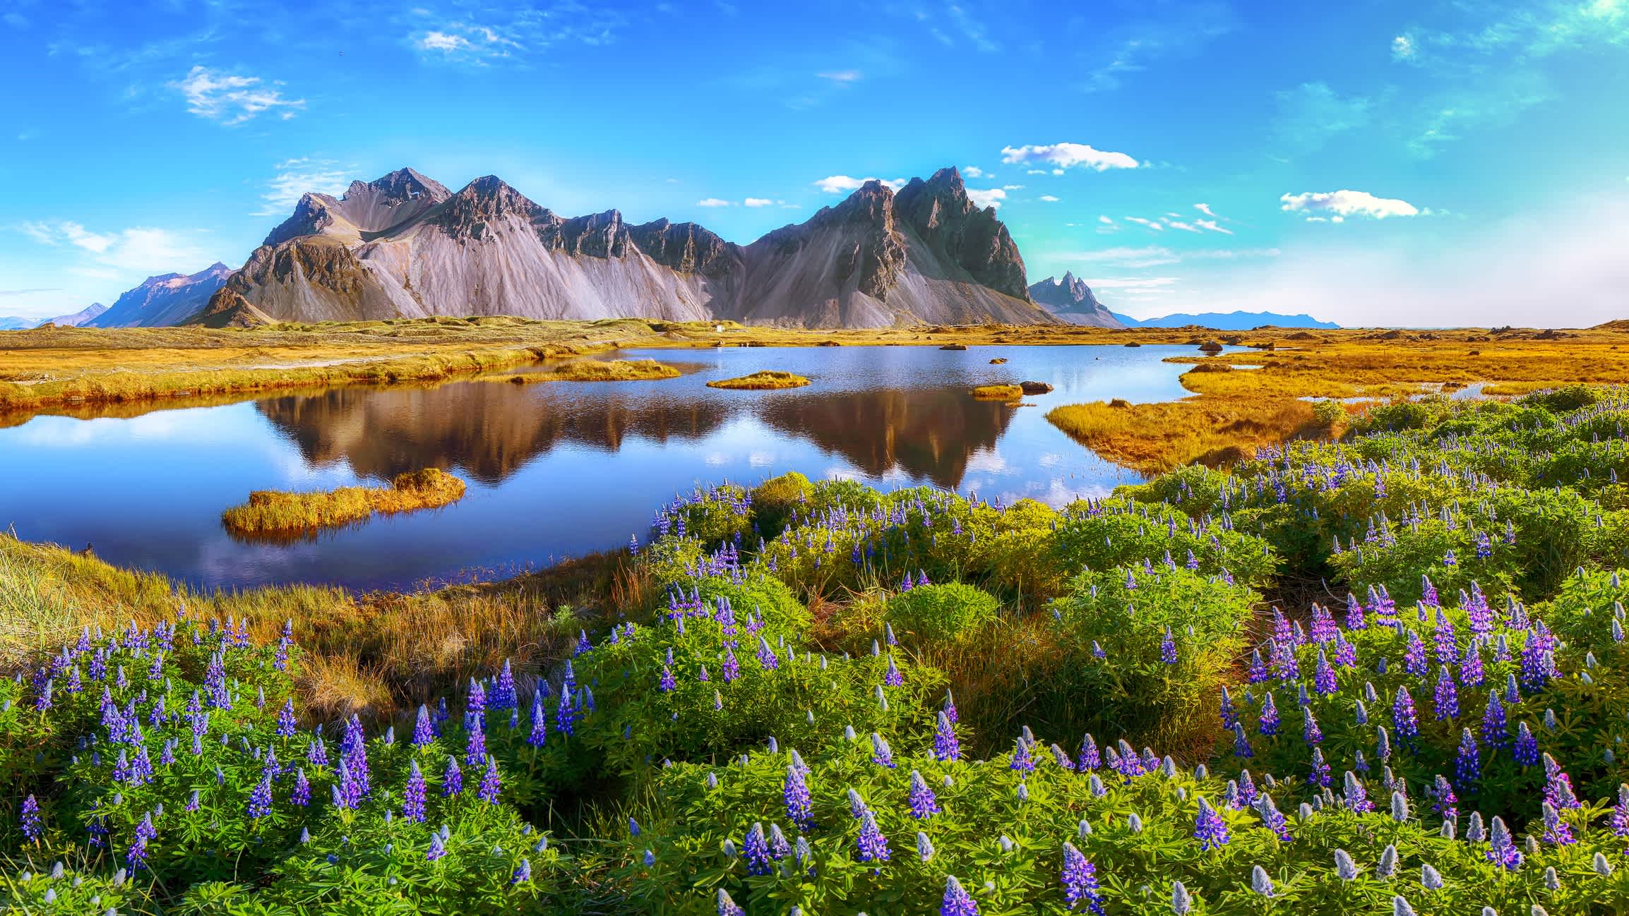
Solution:
[[[202,324],[513,314],[735,319],[805,327],[1051,322],[1023,259],[956,169],[898,194],[868,182],[806,223],[738,246],[696,223],[562,216],[485,176],[458,192],[399,169],[308,194]]]

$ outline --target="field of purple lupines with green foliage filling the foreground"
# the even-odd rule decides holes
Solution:
[[[1624,913],[1626,420],[1399,403],[1065,511],[709,488],[650,607],[380,721],[178,602],[0,680],[0,909]]]

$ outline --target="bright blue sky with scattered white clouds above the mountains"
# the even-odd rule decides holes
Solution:
[[[748,242],[963,168],[1117,311],[1629,317],[1629,0],[0,0],[0,316],[497,174]]]

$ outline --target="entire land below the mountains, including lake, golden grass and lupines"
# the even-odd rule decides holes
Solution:
[[[1624,343],[0,335],[0,900],[1622,909]]]

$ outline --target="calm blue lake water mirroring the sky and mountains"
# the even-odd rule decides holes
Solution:
[[[94,545],[103,558],[207,586],[407,587],[643,542],[653,509],[696,485],[788,470],[885,488],[935,483],[1012,503],[1065,504],[1134,473],[1046,421],[1059,403],[1171,400],[1188,347],[650,350],[681,379],[435,389],[339,389],[134,418],[36,417],[0,430],[0,524]],[[1003,366],[990,358],[1007,356]],[[784,392],[709,379],[762,368],[810,376]],[[1044,381],[1025,407],[976,384]],[[417,467],[471,480],[456,506],[292,545],[239,543],[220,513],[249,490],[326,490]]]

